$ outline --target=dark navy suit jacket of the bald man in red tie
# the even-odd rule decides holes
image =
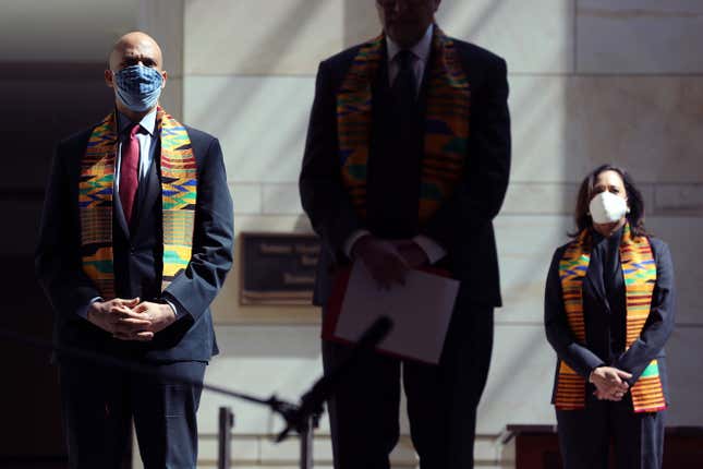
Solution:
[[[233,211],[217,139],[186,127],[197,164],[193,254],[161,292],[162,224],[159,155],[140,183],[133,226],[113,197],[112,242],[118,298],[170,301],[179,320],[149,342],[123,341],[76,314],[99,297],[81,261],[78,178],[93,128],[62,141],[53,159],[36,250],[36,270],[54,310],[59,345],[155,362],[207,361],[217,353],[209,304],[232,265]]]

